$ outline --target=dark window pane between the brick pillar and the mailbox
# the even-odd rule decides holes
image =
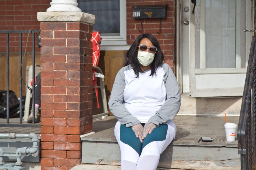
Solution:
[[[95,15],[93,30],[106,36],[120,35],[119,0],[77,0],[77,3],[82,12]]]

